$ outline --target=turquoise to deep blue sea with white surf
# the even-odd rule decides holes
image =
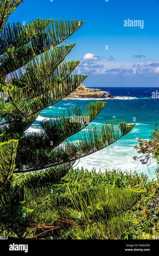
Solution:
[[[95,87],[93,87],[95,88]],[[97,170],[101,169],[121,169],[122,171],[144,172],[150,178],[156,176],[156,162],[151,162],[149,170],[146,165],[133,162],[132,157],[137,154],[134,146],[137,144],[136,138],[149,139],[155,123],[159,123],[159,99],[152,98],[152,92],[159,92],[158,88],[153,87],[98,87],[102,90],[110,92],[111,96],[128,96],[130,100],[106,99],[105,108],[90,123],[90,126],[99,125],[106,120],[114,118],[125,119],[127,123],[136,123],[134,129],[118,140],[114,144],[98,151],[90,156],[84,157],[77,163],[78,167],[84,167],[91,170],[93,167]],[[37,129],[38,120],[43,117],[53,116],[56,112],[67,110],[68,107],[79,105],[85,107],[86,104],[96,100],[62,100],[49,108],[44,109],[37,121],[31,126],[30,130]],[[136,118],[136,121],[133,121]],[[82,133],[82,132],[81,132]],[[77,135],[71,137],[73,142],[78,140]]]

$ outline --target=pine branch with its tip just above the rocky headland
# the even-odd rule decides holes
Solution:
[[[9,91],[7,91],[9,95],[8,98],[10,99],[10,102],[16,106],[15,108],[20,113],[21,118],[16,118],[10,121],[0,123],[0,126],[8,123],[22,121],[23,118],[29,118],[41,111],[42,109],[57,103],[58,101],[65,98],[68,94],[70,94],[73,90],[75,90],[86,77],[87,76],[82,75],[70,75],[65,80],[61,78],[61,81],[55,78],[54,83],[51,81],[51,78],[48,78],[43,83],[43,95],[41,96],[37,96],[36,91],[34,92],[31,89],[29,90],[29,92],[27,89],[25,89],[24,91],[24,89],[21,90],[17,87],[10,89]],[[30,100],[27,101],[26,99]],[[0,113],[3,113],[3,107],[4,105],[2,105],[2,110],[0,110]]]

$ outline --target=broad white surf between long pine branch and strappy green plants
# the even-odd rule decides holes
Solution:
[[[88,170],[91,170],[94,167],[97,171],[101,169],[103,172],[105,169],[121,169],[122,171],[127,170],[128,172],[143,172],[144,174],[151,176],[146,165],[142,164],[141,162],[133,162],[133,156],[137,153],[134,149],[136,144],[133,142],[128,144],[129,145],[121,145],[121,142],[118,141],[115,144],[106,147],[105,149],[81,158],[79,163],[77,160],[75,162],[75,165],[77,164],[75,168],[83,167],[84,169],[87,168]],[[156,163],[151,163],[149,169],[152,176],[155,177]]]

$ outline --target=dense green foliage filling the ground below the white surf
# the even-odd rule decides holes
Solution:
[[[157,185],[146,175],[71,169],[54,185],[51,171],[49,181],[44,173],[13,175],[6,187],[9,197],[5,189],[1,193],[0,233],[40,239],[156,238]]]

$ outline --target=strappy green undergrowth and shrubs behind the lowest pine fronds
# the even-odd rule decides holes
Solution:
[[[109,185],[112,187],[144,189],[144,196],[138,203],[129,210],[129,214],[134,214],[138,220],[138,225],[119,239],[158,239],[159,223],[158,223],[158,182],[149,180],[145,174],[129,174],[113,170],[106,170],[104,173],[96,172],[93,169],[91,172],[83,168],[71,169],[66,177],[62,179],[66,184],[65,193],[71,194],[77,191],[84,191],[95,186]]]

